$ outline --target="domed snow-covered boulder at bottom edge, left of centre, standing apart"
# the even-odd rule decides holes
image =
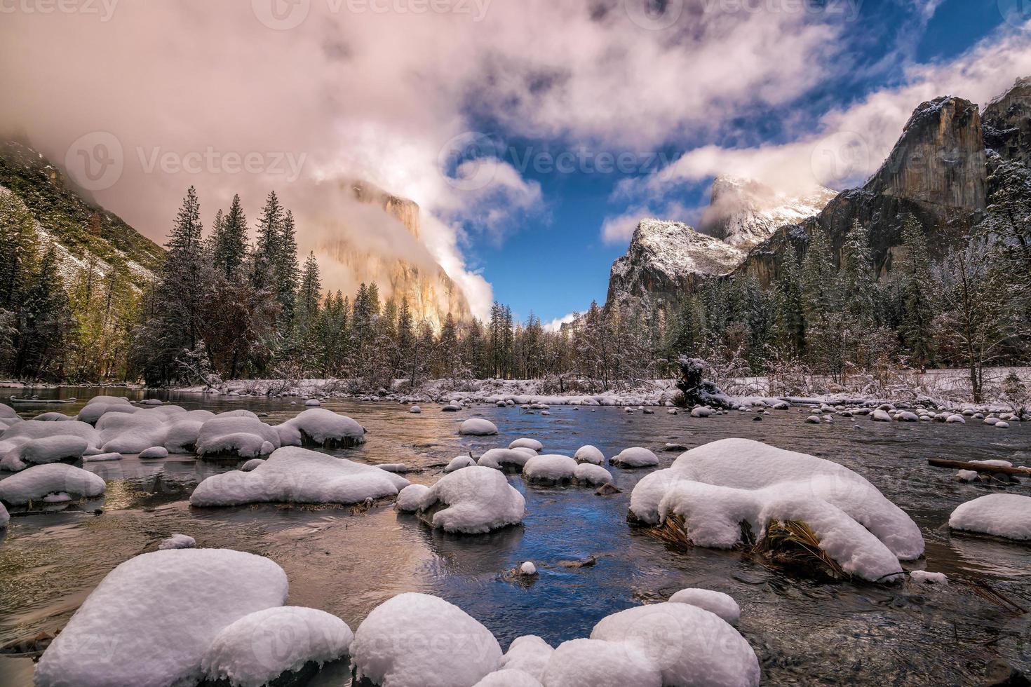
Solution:
[[[457,606],[428,594],[405,593],[379,605],[362,621],[351,658],[358,677],[377,685],[472,687],[497,669],[501,647],[489,629]]]

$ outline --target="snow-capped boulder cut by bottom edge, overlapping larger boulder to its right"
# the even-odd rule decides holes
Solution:
[[[637,645],[580,639],[559,645],[544,666],[542,684],[546,687],[662,687],[663,682],[659,665]]]

